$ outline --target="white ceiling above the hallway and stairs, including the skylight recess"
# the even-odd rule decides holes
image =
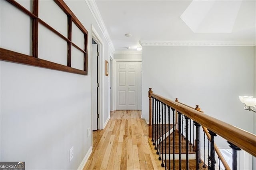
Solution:
[[[255,0],[95,2],[116,51],[159,43],[256,44]]]

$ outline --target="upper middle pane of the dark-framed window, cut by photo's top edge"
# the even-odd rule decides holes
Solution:
[[[42,0],[38,2],[38,17],[60,32],[63,36],[68,36],[68,16],[53,0]]]

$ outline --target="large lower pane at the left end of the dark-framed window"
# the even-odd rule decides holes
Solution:
[[[29,16],[5,0],[1,0],[1,47],[31,55],[32,22]]]

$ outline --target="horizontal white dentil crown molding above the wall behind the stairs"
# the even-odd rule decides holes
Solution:
[[[142,46],[255,46],[254,42],[150,42],[140,41]]]

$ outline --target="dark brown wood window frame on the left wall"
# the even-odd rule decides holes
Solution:
[[[38,17],[38,0],[32,0],[32,12],[24,8],[22,5],[20,5],[15,0],[7,0],[10,4],[14,5],[16,8],[30,16],[32,19],[32,56],[21,54],[15,51],[7,50],[4,48],[0,48],[0,60],[9,61],[9,62],[17,62],[21,64],[28,64],[32,66],[38,66],[43,68],[50,68],[54,70],[60,70],[65,72],[71,72],[76,74],[82,74],[87,75],[88,74],[88,31],[84,28],[82,23],[76,18],[74,13],[68,8],[68,6],[65,4],[63,0],[54,0],[54,2],[66,13],[67,19],[68,19],[68,38],[60,34],[57,30],[52,28],[50,25],[48,25],[46,22],[41,20]],[[84,34],[84,46],[83,49],[78,47],[76,44],[74,44],[71,40],[72,38],[72,22],[76,24],[76,26],[83,32]],[[64,66],[62,64],[57,64],[54,62],[50,62],[47,60],[43,60],[38,58],[38,24],[42,24],[52,32],[54,32],[56,35],[58,35],[60,38],[65,40],[67,42],[67,66]],[[76,68],[71,67],[71,48],[75,47],[80,52],[84,54],[84,70],[79,70]]]

